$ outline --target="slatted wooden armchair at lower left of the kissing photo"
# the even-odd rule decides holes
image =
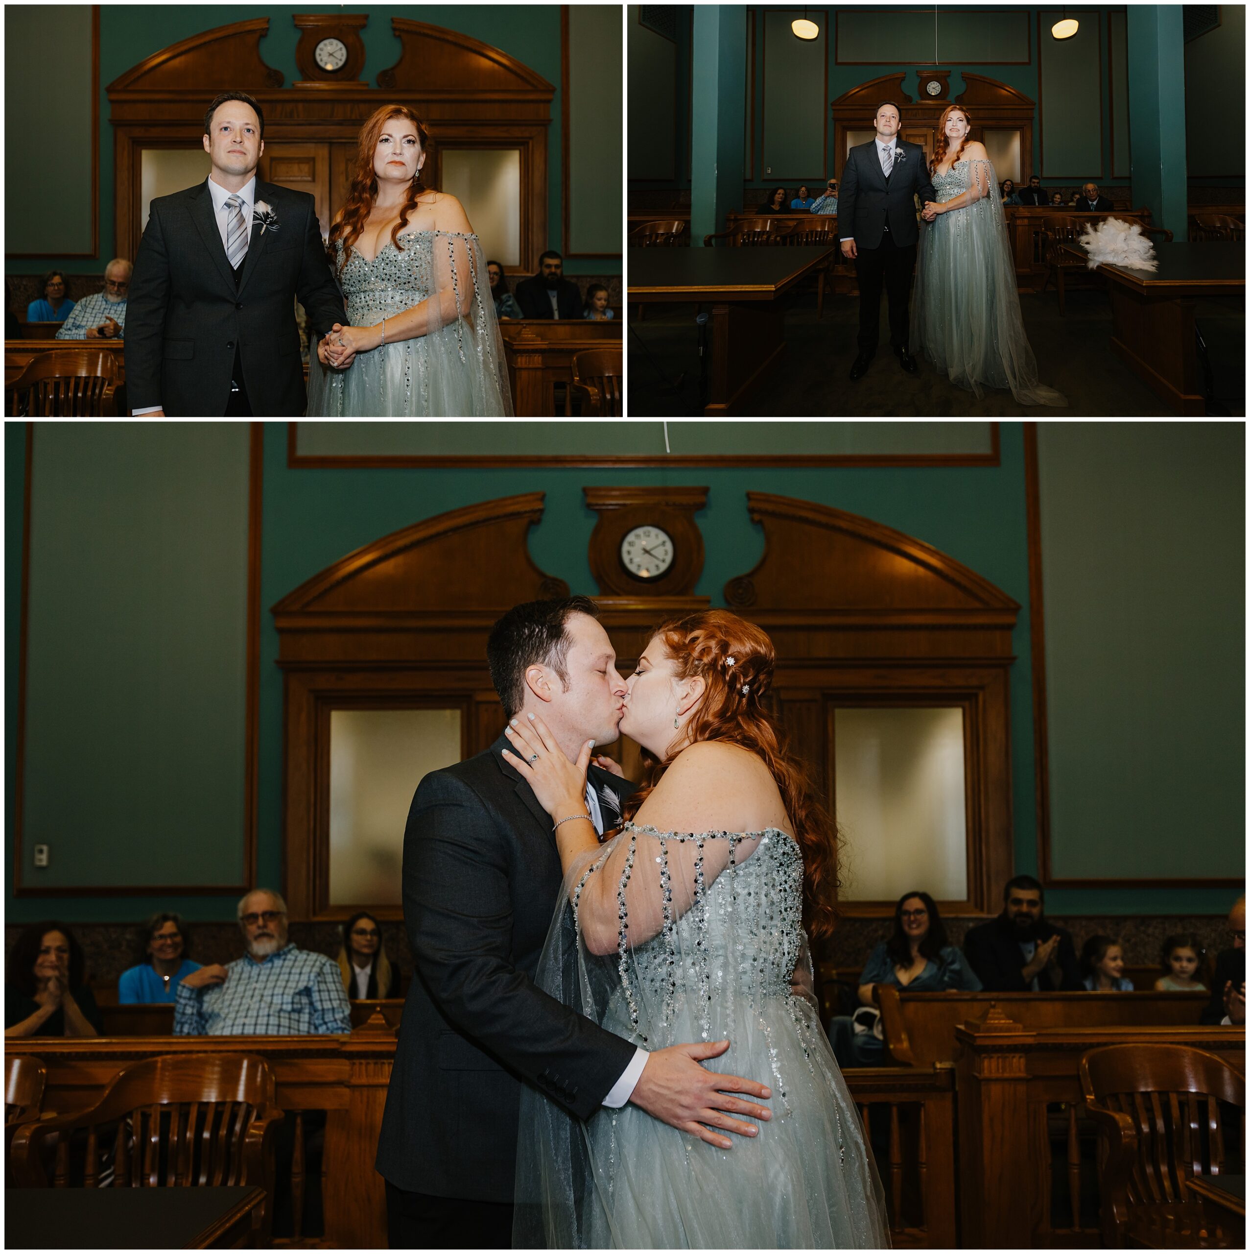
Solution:
[[[18,1127],[13,1169],[20,1188],[46,1189],[43,1149],[56,1137],[51,1185],[70,1175],[70,1136],[87,1134],[83,1188],[98,1188],[100,1151],[114,1150],[113,1188],[260,1185],[266,1200],[253,1229],[268,1240],[273,1198],[273,1134],[282,1120],[273,1073],[251,1053],[183,1053],[123,1067],[100,1100]]]

